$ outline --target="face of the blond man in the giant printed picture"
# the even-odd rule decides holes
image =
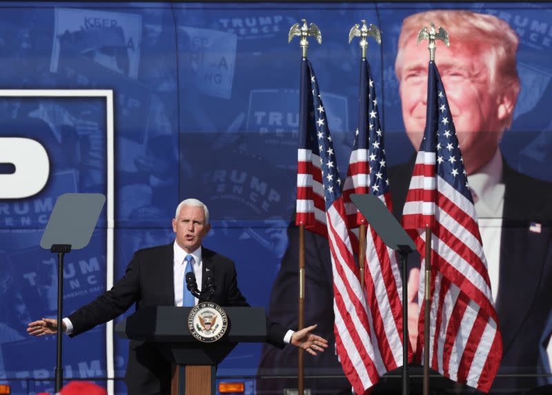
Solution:
[[[427,45],[415,45],[415,37],[404,48],[402,64],[397,68],[400,77],[402,117],[406,134],[420,148],[426,123]],[[451,40],[452,41],[452,40]],[[504,120],[504,95],[493,89],[488,63],[483,54],[488,48],[482,43],[460,42],[447,48],[437,41],[435,63],[449,100],[458,141],[466,170],[471,173],[484,163],[473,160],[495,152]],[[502,106],[501,106],[502,105]],[[489,158],[490,160],[490,158]]]

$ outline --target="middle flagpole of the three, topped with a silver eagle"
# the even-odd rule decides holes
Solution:
[[[353,40],[353,37],[360,37],[359,40],[359,46],[361,49],[361,67],[364,67],[364,61],[366,61],[366,56],[368,52],[368,37],[373,37],[375,41],[378,44],[382,43],[382,38],[380,34],[380,30],[377,28],[377,26],[374,26],[370,24],[370,27],[366,25],[366,21],[364,19],[361,20],[362,26],[360,26],[358,23],[351,28],[349,31],[349,43]],[[362,81],[362,70],[360,70],[361,75],[361,81],[360,81],[360,94],[366,94],[366,90],[362,84],[365,83],[365,81]],[[359,129],[357,132],[366,134],[366,123],[362,121],[361,117],[366,117],[366,108],[359,109]],[[364,126],[362,126],[364,125]],[[363,129],[363,130],[360,130]],[[367,180],[366,180],[367,181]],[[366,183],[368,185],[368,183]],[[368,187],[369,188],[369,187]],[[368,191],[369,192],[369,191]],[[368,193],[366,192],[366,193]],[[365,261],[366,261],[366,220],[363,218],[362,223],[359,226],[359,247],[358,247],[358,263],[359,263],[359,280],[360,280],[360,288],[364,290],[364,271],[365,268]]]

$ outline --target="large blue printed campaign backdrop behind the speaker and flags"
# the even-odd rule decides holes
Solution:
[[[110,179],[113,217],[103,210],[90,245],[66,256],[66,314],[101,294],[106,278],[121,278],[133,252],[170,242],[177,204],[195,197],[210,209],[206,247],[235,260],[249,303],[296,329],[301,50],[298,38],[288,43],[290,26],[305,18],[322,31],[322,45],[311,39],[308,57],[343,179],[359,117],[360,49],[357,38],[348,43],[348,33],[361,19],[380,27],[382,43],[369,39],[368,61],[400,216],[425,121],[428,53],[415,34],[429,21],[416,21],[412,37],[401,34],[415,14],[439,10],[431,17],[437,18],[462,9],[475,12],[466,23],[483,15],[488,23],[479,28],[490,30],[466,38],[457,19],[447,17],[451,48],[438,44],[436,64],[464,165],[473,168],[470,183],[482,180],[476,211],[504,338],[500,373],[528,375],[523,383],[497,383],[521,392],[551,381],[551,4],[1,3],[3,89],[112,90],[113,107],[101,97],[0,94],[0,146],[6,137],[33,139],[50,164],[37,194],[0,201],[0,379],[29,378],[13,382],[15,393],[52,392],[52,382],[41,379],[53,376],[55,338],[26,333],[28,322],[56,313],[55,256],[37,245],[57,196],[108,194]],[[511,56],[501,63],[500,53]],[[13,171],[0,158],[0,173]],[[307,240],[308,323],[318,323],[333,343],[327,241],[310,233]],[[417,257],[409,265],[419,265]],[[124,376],[127,342],[115,338],[114,354],[107,355],[112,339],[103,325],[64,340],[66,376],[105,377],[111,365],[115,377]],[[342,375],[332,348],[308,360],[309,374]],[[240,345],[219,374],[293,375],[296,361],[290,346]],[[296,384],[257,390],[281,394],[282,385]],[[313,388],[346,387],[335,380]],[[115,392],[126,393],[121,381]]]

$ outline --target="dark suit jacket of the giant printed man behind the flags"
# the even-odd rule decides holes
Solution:
[[[398,220],[402,218],[413,165],[414,161],[409,161],[389,169],[393,213]],[[535,374],[538,373],[539,352],[544,347],[539,339],[552,313],[552,184],[520,174],[506,163],[503,181],[504,213],[496,310],[504,353],[499,374]],[[540,223],[541,232],[531,232],[531,223]],[[295,225],[289,227],[289,247],[275,280],[269,310],[270,318],[291,326],[297,325],[298,233]],[[313,232],[305,232],[305,235],[305,320],[306,323],[319,323],[319,334],[333,345],[333,285],[328,241]],[[419,267],[420,255],[411,254],[408,266]],[[307,372],[326,374],[328,369],[333,370],[333,374],[342,372],[332,352],[325,352],[324,357],[317,360],[317,364],[307,356]],[[282,366],[287,367],[286,372],[282,372]],[[292,374],[293,369],[296,374],[297,356],[293,350],[275,353],[271,347],[264,347],[259,374]],[[499,378],[493,388],[531,388],[536,384],[535,377],[518,376]],[[270,383],[259,385],[269,387]],[[328,394],[339,389],[336,381],[318,380],[313,385],[319,385]],[[274,391],[276,394],[276,389]]]

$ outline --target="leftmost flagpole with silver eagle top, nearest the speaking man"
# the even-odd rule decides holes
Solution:
[[[302,63],[306,61],[306,54],[308,50],[308,37],[315,37],[316,41],[320,44],[322,43],[322,34],[318,26],[314,23],[311,23],[310,26],[307,25],[306,19],[301,19],[302,25],[300,23],[295,23],[291,26],[288,33],[288,43],[291,42],[293,37],[300,37],[299,46],[301,47],[301,61]],[[301,65],[301,91],[299,92],[299,128],[307,128],[306,122],[306,112],[307,103],[306,97],[302,92],[304,86],[304,78],[306,77],[303,73],[303,64]],[[299,133],[301,134],[301,133]],[[298,267],[298,276],[299,276],[299,297],[298,297],[298,306],[297,306],[297,330],[302,330],[305,327],[305,225],[304,223],[299,224],[299,267]],[[297,349],[297,395],[304,395],[304,385],[305,383],[305,368],[304,368],[304,350],[302,348]]]

